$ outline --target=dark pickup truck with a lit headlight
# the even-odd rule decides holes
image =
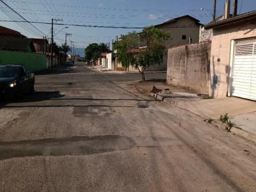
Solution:
[[[0,66],[0,97],[19,99],[23,93],[33,93],[34,84],[34,73],[28,73],[22,64]]]

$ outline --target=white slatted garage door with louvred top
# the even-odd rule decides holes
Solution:
[[[256,38],[236,41],[232,96],[256,100]]]

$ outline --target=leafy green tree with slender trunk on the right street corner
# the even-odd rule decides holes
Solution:
[[[139,48],[139,39],[146,43],[146,47]],[[169,32],[164,32],[154,26],[145,28],[141,33],[136,31],[121,36],[122,41],[115,43],[117,49],[118,61],[122,66],[130,65],[138,69],[142,75],[142,81],[145,81],[145,69],[151,65],[161,64],[165,51],[165,40],[170,38]]]

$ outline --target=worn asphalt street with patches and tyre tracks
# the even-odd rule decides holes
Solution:
[[[140,78],[77,63],[1,103],[0,191],[256,191],[255,144],[143,96]]]

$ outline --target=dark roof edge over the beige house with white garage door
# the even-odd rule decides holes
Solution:
[[[219,27],[219,26],[222,26],[222,25],[225,25],[225,24],[232,24],[232,23],[237,22],[237,21],[242,21],[242,20],[245,20],[245,19],[251,19],[251,18],[254,18],[254,17],[256,17],[256,10],[250,11],[248,13],[243,13],[241,15],[231,17],[231,18],[228,18],[228,19],[223,19],[223,20],[216,19],[216,20],[210,22],[209,24],[205,25],[204,28],[205,29],[211,29],[211,28],[214,28],[214,27]]]

